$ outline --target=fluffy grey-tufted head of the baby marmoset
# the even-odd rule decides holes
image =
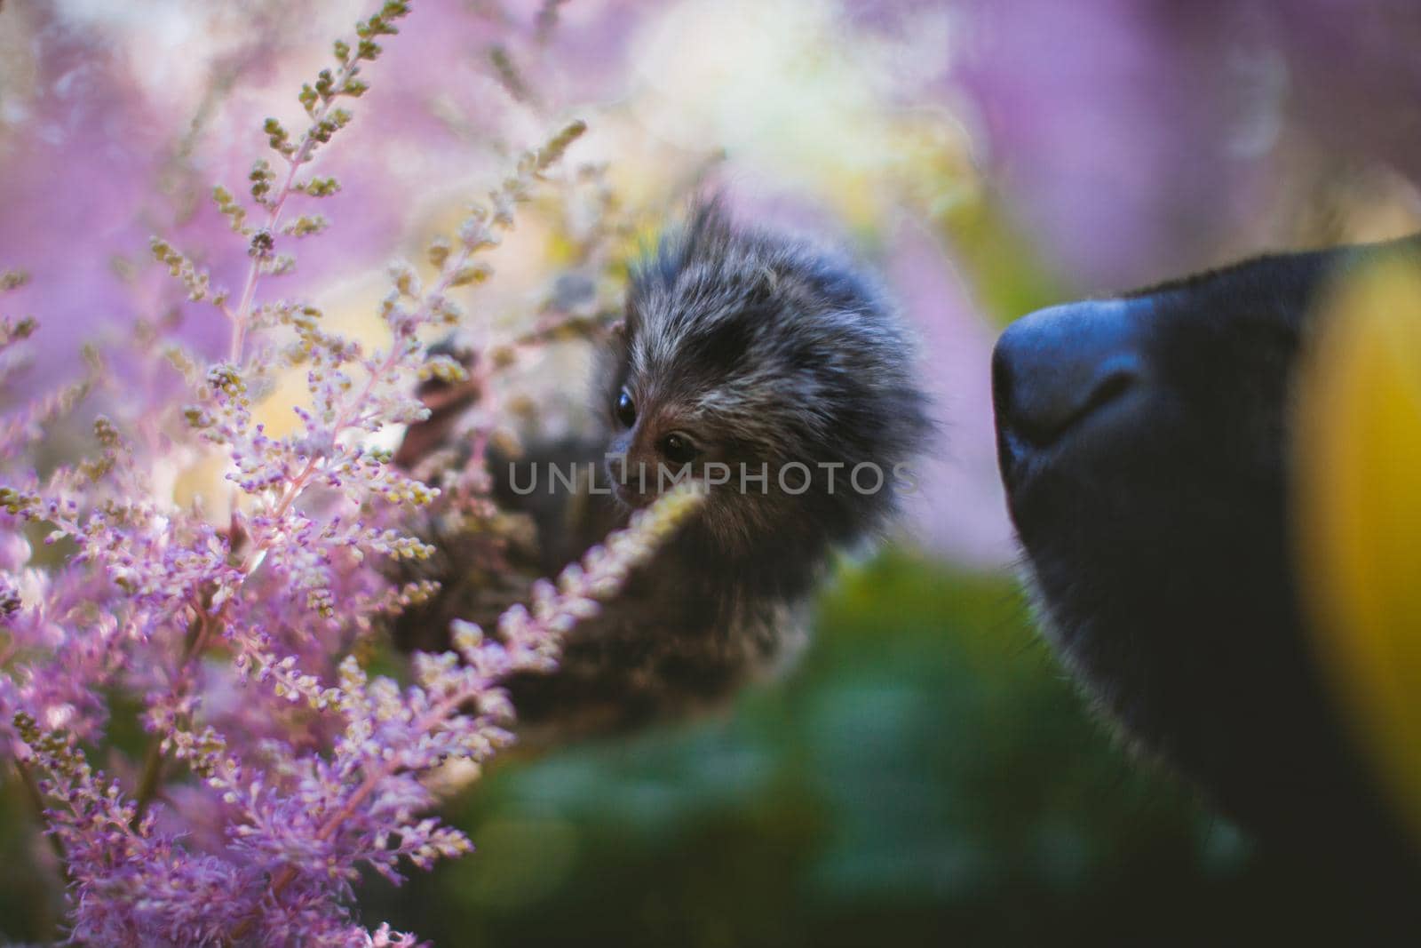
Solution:
[[[725,544],[851,539],[926,438],[912,361],[854,264],[703,205],[634,271],[605,352],[617,495],[642,506],[693,476]]]

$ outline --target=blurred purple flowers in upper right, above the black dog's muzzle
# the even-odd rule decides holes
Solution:
[[[1302,156],[1421,183],[1421,4],[971,0],[953,71],[1057,276],[1113,291],[1297,233]],[[1346,237],[1346,233],[1336,235]]]

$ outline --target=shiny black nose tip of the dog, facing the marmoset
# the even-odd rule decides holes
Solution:
[[[1000,432],[1046,445],[1144,377],[1144,300],[1090,300],[1037,310],[1013,323],[992,352]]]

